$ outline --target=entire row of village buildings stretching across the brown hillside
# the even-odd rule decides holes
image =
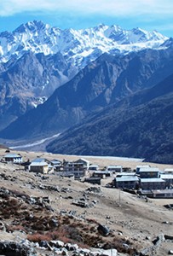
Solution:
[[[107,166],[100,170],[99,166],[90,165],[89,160],[83,158],[76,161],[61,161],[37,157],[35,160],[23,162],[20,154],[10,153],[4,155],[3,160],[25,166],[28,172],[58,173],[62,177],[83,178],[89,183],[101,184],[102,178],[112,177],[112,187],[117,189],[141,190],[146,195],[155,191],[153,197],[160,197],[161,192],[164,193],[162,197],[173,197],[173,169],[160,171],[159,168],[143,165],[136,166],[133,172],[123,166]]]

